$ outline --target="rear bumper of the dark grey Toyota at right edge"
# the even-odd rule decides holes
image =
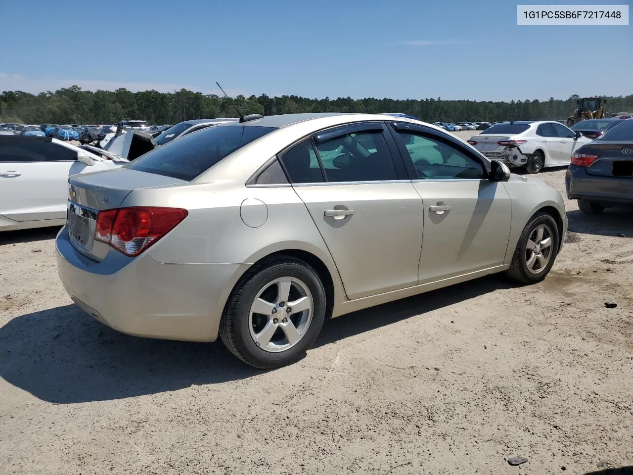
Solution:
[[[633,178],[589,175],[586,168],[569,165],[565,174],[569,200],[591,200],[605,205],[633,204]]]

